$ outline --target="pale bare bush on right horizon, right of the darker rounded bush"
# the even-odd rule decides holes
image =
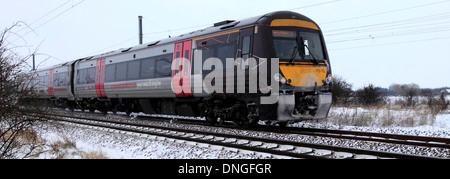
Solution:
[[[392,84],[390,89],[400,96],[403,96],[406,101],[406,106],[414,106],[418,102],[417,97],[420,94],[420,86],[418,84]]]

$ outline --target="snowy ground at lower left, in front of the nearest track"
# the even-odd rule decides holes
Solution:
[[[90,158],[86,154],[100,153],[110,159],[251,159],[252,154],[241,154],[227,150],[210,150],[192,144],[165,141],[131,134],[119,134],[106,130],[80,127],[71,124],[49,125],[38,129],[46,141],[47,152],[37,158]],[[54,152],[53,146],[58,142],[73,142],[71,147],[62,147]],[[63,146],[67,146],[63,145]],[[93,158],[96,158],[95,156]],[[100,157],[103,158],[103,157]]]

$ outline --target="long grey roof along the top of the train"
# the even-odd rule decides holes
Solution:
[[[205,36],[205,35],[209,35],[209,34],[214,34],[214,33],[222,32],[222,31],[240,29],[240,28],[252,26],[252,25],[270,25],[270,23],[274,19],[300,19],[300,20],[305,20],[305,21],[310,21],[310,22],[315,23],[308,17],[306,17],[302,14],[299,14],[299,13],[295,13],[295,12],[291,12],[291,11],[277,11],[277,12],[272,12],[272,13],[268,13],[268,14],[261,15],[261,16],[256,16],[256,17],[239,20],[239,21],[225,20],[222,22],[215,23],[213,26],[207,27],[205,29],[189,32],[186,34],[182,34],[182,35],[179,35],[176,37],[171,37],[171,38],[167,38],[167,39],[163,39],[163,40],[159,40],[159,41],[145,43],[145,44],[138,45],[138,46],[133,46],[133,47],[129,47],[129,48],[121,48],[119,50],[106,52],[106,53],[103,53],[100,55],[95,55],[95,56],[78,59],[75,61],[67,62],[63,65],[54,66],[53,68],[72,64],[76,61],[88,61],[88,60],[105,58],[105,57],[118,55],[118,54],[125,53],[125,52],[133,52],[133,51],[145,49],[145,48],[148,48],[151,46],[181,42],[186,39],[192,39],[192,38],[201,37],[201,36]]]

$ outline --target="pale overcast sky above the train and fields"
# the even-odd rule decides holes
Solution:
[[[450,86],[450,0],[3,1],[1,30],[18,21],[29,25],[15,28],[8,44],[21,46],[22,55],[39,47],[40,68],[137,45],[139,15],[144,42],[151,42],[222,20],[291,10],[319,24],[334,75],[354,89]]]

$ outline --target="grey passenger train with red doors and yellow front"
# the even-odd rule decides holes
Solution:
[[[332,70],[310,18],[278,11],[33,71],[54,106],[270,125],[325,119]],[[270,85],[269,85],[270,84]]]

